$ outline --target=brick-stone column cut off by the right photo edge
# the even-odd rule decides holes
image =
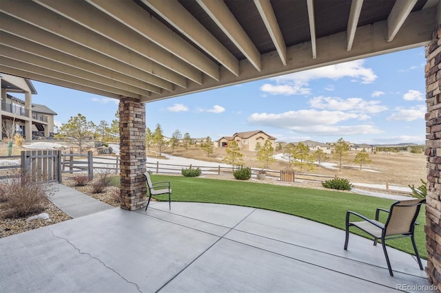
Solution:
[[[441,28],[426,47],[427,274],[441,289]]]

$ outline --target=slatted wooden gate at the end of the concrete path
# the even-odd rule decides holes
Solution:
[[[34,182],[61,183],[61,151],[22,151],[21,169]]]

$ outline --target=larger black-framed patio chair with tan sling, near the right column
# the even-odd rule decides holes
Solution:
[[[378,239],[380,239],[383,247],[384,257],[386,257],[387,268],[389,268],[389,274],[393,276],[391,263],[389,261],[386,250],[386,240],[401,237],[411,237],[413,250],[415,250],[416,259],[418,260],[418,265],[420,265],[420,270],[423,270],[420,254],[418,254],[418,249],[416,248],[415,239],[413,237],[413,231],[415,225],[418,224],[416,222],[416,218],[418,217],[418,213],[420,212],[421,205],[425,202],[426,199],[410,199],[393,203],[390,210],[377,208],[375,220],[369,219],[363,215],[348,210],[346,213],[345,250],[347,250],[347,244],[349,241],[349,227],[351,226],[359,228],[360,230],[363,230],[367,232],[367,234],[373,236],[374,246],[377,245]],[[378,221],[380,211],[389,213],[385,224],[382,224],[380,221]],[[360,217],[364,221],[349,221],[350,215]]]

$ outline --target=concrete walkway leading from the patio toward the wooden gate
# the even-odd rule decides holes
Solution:
[[[110,204],[105,204],[98,199],[77,191],[75,188],[63,184],[53,184],[52,191],[54,195],[50,197],[50,201],[72,218],[92,215],[103,210],[115,208],[110,206]]]

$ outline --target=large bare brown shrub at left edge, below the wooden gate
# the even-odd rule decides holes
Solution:
[[[12,178],[1,184],[0,196],[5,202],[2,210],[3,218],[19,218],[41,213],[48,202],[48,184],[38,184],[32,181],[27,173]]]

